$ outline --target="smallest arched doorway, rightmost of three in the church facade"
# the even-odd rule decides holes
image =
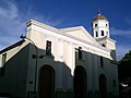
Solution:
[[[107,81],[104,74],[99,75],[99,93],[100,93],[100,98],[106,98]]]

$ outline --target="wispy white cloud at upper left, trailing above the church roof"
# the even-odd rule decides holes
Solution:
[[[4,3],[4,5],[2,5]],[[32,5],[27,5],[26,11],[19,10],[19,3],[10,0],[0,1],[0,49],[20,40],[20,36],[25,34],[26,21],[33,19],[45,24],[56,26],[62,20],[52,21],[52,16],[44,16],[33,11]]]

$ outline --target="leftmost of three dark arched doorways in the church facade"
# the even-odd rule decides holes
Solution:
[[[39,70],[39,98],[55,97],[55,71],[49,65]]]

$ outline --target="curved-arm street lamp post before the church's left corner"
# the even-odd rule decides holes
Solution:
[[[34,98],[36,98],[38,48],[37,48],[37,46],[35,45],[35,42],[34,42],[32,39],[27,38],[26,36],[23,36],[23,35],[22,35],[20,38],[29,40],[29,41],[34,45],[35,50],[36,50],[36,52],[35,52],[36,54],[33,56],[33,58],[36,59],[36,62],[35,62],[35,81],[34,81],[34,93],[35,93],[35,94],[34,94]]]

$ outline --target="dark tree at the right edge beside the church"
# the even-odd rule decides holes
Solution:
[[[120,98],[131,98],[131,50],[119,61],[118,64]]]

